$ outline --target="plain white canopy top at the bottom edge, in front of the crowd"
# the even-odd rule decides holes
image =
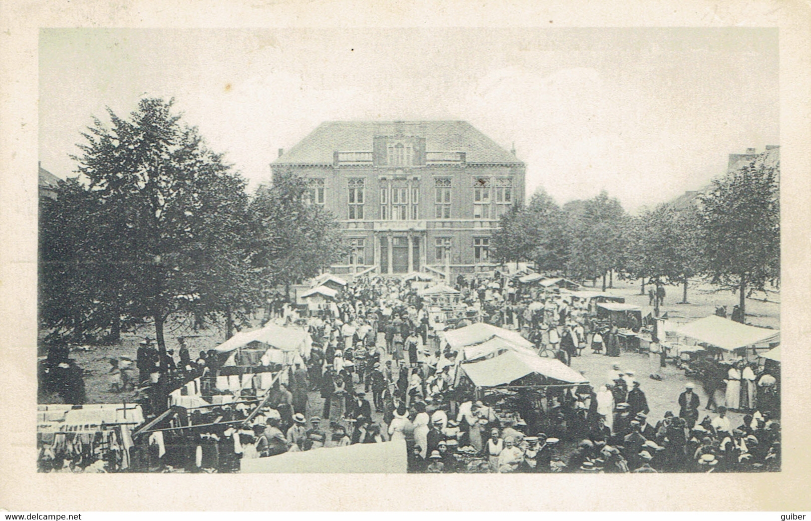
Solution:
[[[407,471],[408,454],[405,440],[396,440],[242,459],[241,466],[242,473],[402,474]]]

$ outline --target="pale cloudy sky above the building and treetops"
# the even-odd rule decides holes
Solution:
[[[174,97],[250,187],[327,120],[462,119],[526,162],[530,195],[636,212],[779,144],[770,28],[44,29],[40,161],[75,175],[106,107]]]

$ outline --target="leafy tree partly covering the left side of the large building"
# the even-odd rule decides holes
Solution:
[[[251,200],[251,265],[268,286],[310,278],[348,252],[335,218],[307,204],[307,184],[287,170]]]

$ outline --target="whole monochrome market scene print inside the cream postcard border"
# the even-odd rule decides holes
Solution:
[[[42,28],[36,470],[780,472],[778,29],[547,25]]]

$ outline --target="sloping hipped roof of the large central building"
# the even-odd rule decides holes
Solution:
[[[332,164],[335,152],[371,152],[375,136],[397,135],[424,137],[427,152],[464,152],[468,163],[521,162],[466,121],[328,121],[273,164]]]

